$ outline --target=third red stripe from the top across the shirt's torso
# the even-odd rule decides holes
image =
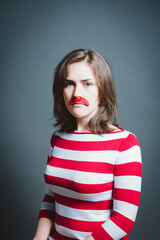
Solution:
[[[60,186],[63,188],[70,189],[79,193],[101,193],[112,190],[113,183],[102,183],[102,184],[84,184],[77,183],[68,179],[54,177],[45,174],[45,181],[48,184]]]

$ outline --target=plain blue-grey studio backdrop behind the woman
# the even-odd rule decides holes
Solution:
[[[115,78],[120,126],[135,133],[143,188],[131,240],[159,236],[159,1],[1,1],[1,238],[32,239],[52,127],[53,69],[98,50]]]

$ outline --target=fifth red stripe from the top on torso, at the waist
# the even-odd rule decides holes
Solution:
[[[56,224],[66,227],[75,231],[82,232],[93,232],[93,230],[104,223],[101,222],[87,222],[82,220],[75,220],[67,217],[63,217],[57,213],[55,213],[55,222]]]

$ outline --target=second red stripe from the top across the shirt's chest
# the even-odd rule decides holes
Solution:
[[[52,157],[48,163],[52,167],[71,169],[76,171],[113,173],[114,165],[103,162],[83,162]]]

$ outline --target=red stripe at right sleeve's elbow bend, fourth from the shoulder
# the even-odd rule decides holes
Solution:
[[[110,218],[119,228],[128,233],[132,230],[134,222],[120,213],[114,212]]]

